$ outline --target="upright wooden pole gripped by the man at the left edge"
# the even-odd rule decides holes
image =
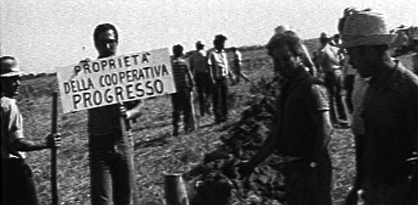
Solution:
[[[52,95],[52,121],[51,121],[51,132],[57,133],[58,124],[58,94],[54,92]],[[52,194],[52,205],[59,204],[58,198],[58,183],[56,181],[56,148],[51,149],[51,194]]]

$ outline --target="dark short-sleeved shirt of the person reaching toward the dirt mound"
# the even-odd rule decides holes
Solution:
[[[330,138],[320,139],[314,120],[316,115],[330,110],[327,90],[314,76],[305,74],[287,83],[277,100],[279,131],[278,150],[286,156],[309,157],[314,150],[327,145]],[[323,142],[318,143],[318,140]]]

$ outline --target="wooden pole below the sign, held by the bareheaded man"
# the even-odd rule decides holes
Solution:
[[[123,106],[123,104],[121,105]],[[129,170],[130,170],[130,174],[131,174],[131,181],[130,181],[130,186],[132,187],[131,189],[131,202],[134,205],[138,205],[139,204],[139,197],[138,197],[138,188],[137,188],[137,183],[135,182],[135,169],[134,169],[134,142],[133,142],[133,136],[132,136],[132,132],[131,132],[131,124],[130,121],[127,120],[125,117],[121,117],[121,129],[122,129],[122,135],[123,135],[123,142],[125,142],[127,144],[128,148],[128,155],[129,155]]]

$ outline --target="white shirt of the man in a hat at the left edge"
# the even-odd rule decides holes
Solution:
[[[1,160],[8,158],[25,158],[22,151],[13,146],[16,140],[22,139],[23,120],[16,100],[1,93]]]

